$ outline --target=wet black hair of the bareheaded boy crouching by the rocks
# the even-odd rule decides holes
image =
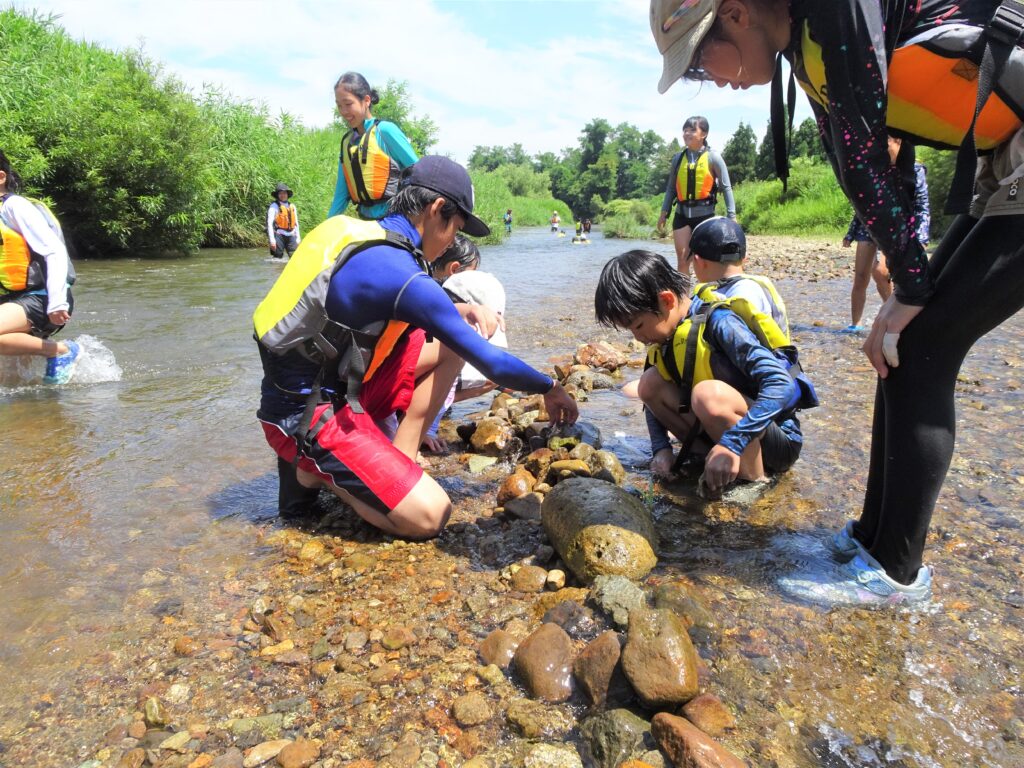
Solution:
[[[662,311],[657,295],[672,291],[680,298],[690,292],[689,275],[678,272],[650,251],[627,251],[601,270],[594,294],[597,322],[609,328],[629,328],[639,314]]]

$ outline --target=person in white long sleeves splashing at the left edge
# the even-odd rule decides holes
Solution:
[[[75,269],[53,214],[20,190],[0,150],[0,354],[45,357],[43,381],[67,384],[81,349],[50,337],[71,321]]]

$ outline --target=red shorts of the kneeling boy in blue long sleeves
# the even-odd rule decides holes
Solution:
[[[300,469],[347,490],[384,514],[409,495],[423,476],[423,469],[391,444],[375,420],[409,408],[416,388],[416,364],[425,336],[420,329],[407,333],[373,378],[362,385],[359,402],[366,413],[353,413],[347,404],[334,412],[309,450],[299,456]],[[317,407],[310,426],[331,408],[330,403]],[[288,462],[294,461],[298,442],[290,425],[260,423],[266,441],[278,456]]]

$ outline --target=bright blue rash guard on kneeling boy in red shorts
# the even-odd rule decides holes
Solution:
[[[387,216],[380,223],[419,247],[420,233],[404,216]],[[510,389],[540,393],[554,384],[550,377],[477,334],[444,290],[401,248],[380,245],[352,256],[331,279],[326,303],[331,319],[351,328],[389,319],[422,328],[488,379]],[[262,346],[260,350],[267,372],[260,418],[280,421],[301,413],[305,407],[302,399],[283,389],[308,392],[319,367],[295,351],[276,357]]]

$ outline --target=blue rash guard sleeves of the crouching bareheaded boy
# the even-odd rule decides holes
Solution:
[[[699,305],[699,300],[694,300],[690,314]],[[722,435],[718,444],[739,456],[771,422],[776,422],[791,441],[802,443],[800,422],[792,414],[800,397],[800,385],[790,376],[785,364],[758,341],[742,318],[725,307],[716,309],[708,318],[705,340],[712,347],[715,379],[753,400],[743,418]],[[668,432],[649,411],[644,409],[644,414],[651,451],[656,454],[670,446]],[[780,420],[783,414],[786,416]]]

